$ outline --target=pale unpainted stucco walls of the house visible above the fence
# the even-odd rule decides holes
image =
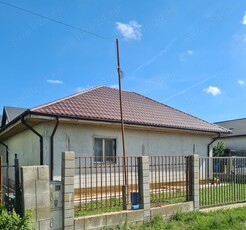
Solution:
[[[54,123],[45,123],[35,127],[44,138],[44,163],[50,162],[50,136]],[[120,128],[98,126],[81,126],[59,124],[54,136],[54,176],[61,172],[61,153],[72,150],[77,155],[93,156],[93,140],[95,137],[115,138],[117,156],[122,156],[122,140]],[[191,155],[195,152],[207,156],[207,145],[210,136],[201,134],[175,134],[144,130],[125,130],[126,152],[128,156],[141,155]],[[20,165],[39,164],[39,138],[30,130],[24,131],[5,141],[9,145],[11,159],[14,153],[19,154]],[[1,151],[4,154],[4,151]]]

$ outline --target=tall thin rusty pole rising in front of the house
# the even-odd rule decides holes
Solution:
[[[117,50],[117,67],[116,68],[117,68],[118,80],[119,80],[120,118],[121,118],[122,148],[123,148],[123,171],[124,171],[123,195],[124,195],[124,193],[126,195],[127,194],[126,148],[125,148],[125,129],[124,129],[123,107],[122,107],[122,93],[121,93],[120,51],[119,51],[119,41],[118,41],[118,38],[116,38],[116,50]],[[126,199],[125,199],[125,201],[126,201]]]

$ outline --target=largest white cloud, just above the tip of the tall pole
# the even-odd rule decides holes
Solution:
[[[128,24],[116,22],[117,30],[123,35],[125,40],[139,40],[142,37],[141,27],[138,22],[130,21]]]

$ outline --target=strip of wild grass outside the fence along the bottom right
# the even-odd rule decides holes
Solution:
[[[150,222],[137,226],[136,224],[123,224],[118,230],[243,230],[246,229],[246,208],[221,209],[214,212],[177,212],[170,220],[160,216],[154,217]]]

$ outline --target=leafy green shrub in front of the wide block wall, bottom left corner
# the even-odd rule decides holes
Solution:
[[[31,230],[31,211],[23,217],[20,217],[14,210],[8,212],[4,207],[0,207],[0,229],[5,230]]]

